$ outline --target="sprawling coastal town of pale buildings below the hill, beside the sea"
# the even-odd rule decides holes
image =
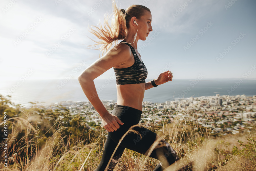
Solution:
[[[111,113],[115,101],[102,100]],[[63,101],[56,103],[69,109],[70,115],[81,115],[88,127],[101,125],[102,120],[92,104],[88,102]],[[193,123],[197,127],[210,128],[212,134],[237,134],[250,131],[256,123],[256,95],[222,95],[190,97],[166,101],[164,103],[143,102],[139,124],[148,126],[154,123],[172,123],[175,118],[184,123]],[[88,124],[89,123],[89,124]],[[93,124],[92,124],[93,123]]]

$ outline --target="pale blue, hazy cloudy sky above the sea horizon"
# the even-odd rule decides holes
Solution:
[[[256,1],[116,2],[151,10],[153,31],[138,41],[147,78],[170,70],[173,79],[256,79]],[[76,79],[100,54],[86,46],[97,40],[88,27],[113,12],[110,0],[1,0],[0,8],[1,81]]]

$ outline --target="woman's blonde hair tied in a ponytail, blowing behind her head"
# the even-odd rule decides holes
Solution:
[[[116,6],[115,0],[112,0],[112,6],[113,6],[113,17],[111,26],[108,23],[109,18],[107,14],[104,15],[104,24],[103,27],[101,23],[99,24],[99,27],[95,27],[96,30],[90,28],[89,32],[94,34],[97,38],[99,38],[102,41],[94,41],[97,44],[91,45],[93,47],[96,47],[98,45],[101,45],[100,49],[102,52],[102,55],[104,52],[107,52],[109,48],[112,46],[113,42],[114,45],[116,45],[117,40],[122,40],[126,38],[127,31],[129,29],[129,21],[133,16],[140,19],[142,15],[144,15],[145,10],[150,11],[147,7],[143,5],[132,5],[128,7],[126,10],[121,9],[119,10]],[[150,11],[151,12],[151,11]]]

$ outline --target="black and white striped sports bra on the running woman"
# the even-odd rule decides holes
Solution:
[[[126,42],[126,41],[122,41]],[[116,84],[124,85],[124,84],[139,84],[145,83],[145,79],[147,78],[147,68],[144,63],[138,58],[134,48],[129,44],[133,56],[134,56],[134,64],[127,68],[114,68]]]

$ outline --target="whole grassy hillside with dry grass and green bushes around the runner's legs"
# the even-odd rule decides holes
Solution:
[[[1,170],[91,171],[98,166],[107,135],[104,128],[88,126],[87,120],[79,115],[71,116],[63,106],[46,108],[31,103],[31,108],[24,109],[0,97]],[[4,117],[7,117],[7,136],[4,136]],[[197,117],[196,113],[193,117]],[[160,127],[151,123],[147,128],[176,150],[181,158],[180,166],[193,163],[190,170],[256,170],[255,127],[240,130],[236,135],[231,132],[225,136],[212,135],[211,127],[186,119],[185,111],[183,116],[166,123]],[[4,137],[8,137],[7,148]],[[153,170],[158,163],[154,158],[125,149],[115,170]]]

